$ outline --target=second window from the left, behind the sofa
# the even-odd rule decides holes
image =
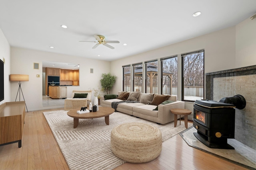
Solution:
[[[142,63],[132,64],[133,69],[133,91],[142,91]]]

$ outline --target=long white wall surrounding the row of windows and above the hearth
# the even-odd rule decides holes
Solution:
[[[205,50],[204,73],[256,65],[255,30],[256,19],[246,19],[234,27],[112,61],[111,73],[118,77],[112,89],[112,93],[117,93],[122,90],[122,72],[120,70],[123,65],[172,55],[178,55],[178,57],[180,57],[182,53],[199,49]],[[181,65],[178,66],[178,71],[181,72]],[[181,74],[179,72],[178,82],[181,82]],[[181,96],[180,91],[178,92],[178,96]],[[180,97],[178,97],[178,99],[179,98]],[[185,107],[192,110],[193,103],[186,102]]]

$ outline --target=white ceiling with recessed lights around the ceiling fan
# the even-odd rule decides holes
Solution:
[[[12,47],[113,61],[234,26],[255,13],[256,0],[0,0],[0,28]],[[95,43],[78,42],[96,41],[93,35],[120,43],[92,49]]]

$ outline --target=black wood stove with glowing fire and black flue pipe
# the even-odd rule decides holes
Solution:
[[[213,100],[194,102],[193,125],[197,129],[195,137],[209,148],[234,149],[227,141],[235,136],[235,107],[246,105],[241,95]]]

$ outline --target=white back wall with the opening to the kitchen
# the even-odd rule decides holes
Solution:
[[[90,88],[97,88],[98,85],[101,86],[102,73],[110,72],[110,62],[108,61],[11,47],[10,74],[29,75],[29,81],[22,82],[21,85],[28,111],[53,108],[42,106],[42,61],[80,64],[80,86],[67,86],[68,98],[71,97],[72,90],[89,90]],[[39,63],[39,69],[34,69],[34,63]],[[94,73],[90,73],[90,68],[94,69]],[[37,78],[36,74],[40,74],[40,78]],[[15,101],[18,82],[11,82],[10,87],[11,101]],[[94,102],[94,96],[92,96],[92,102]]]

